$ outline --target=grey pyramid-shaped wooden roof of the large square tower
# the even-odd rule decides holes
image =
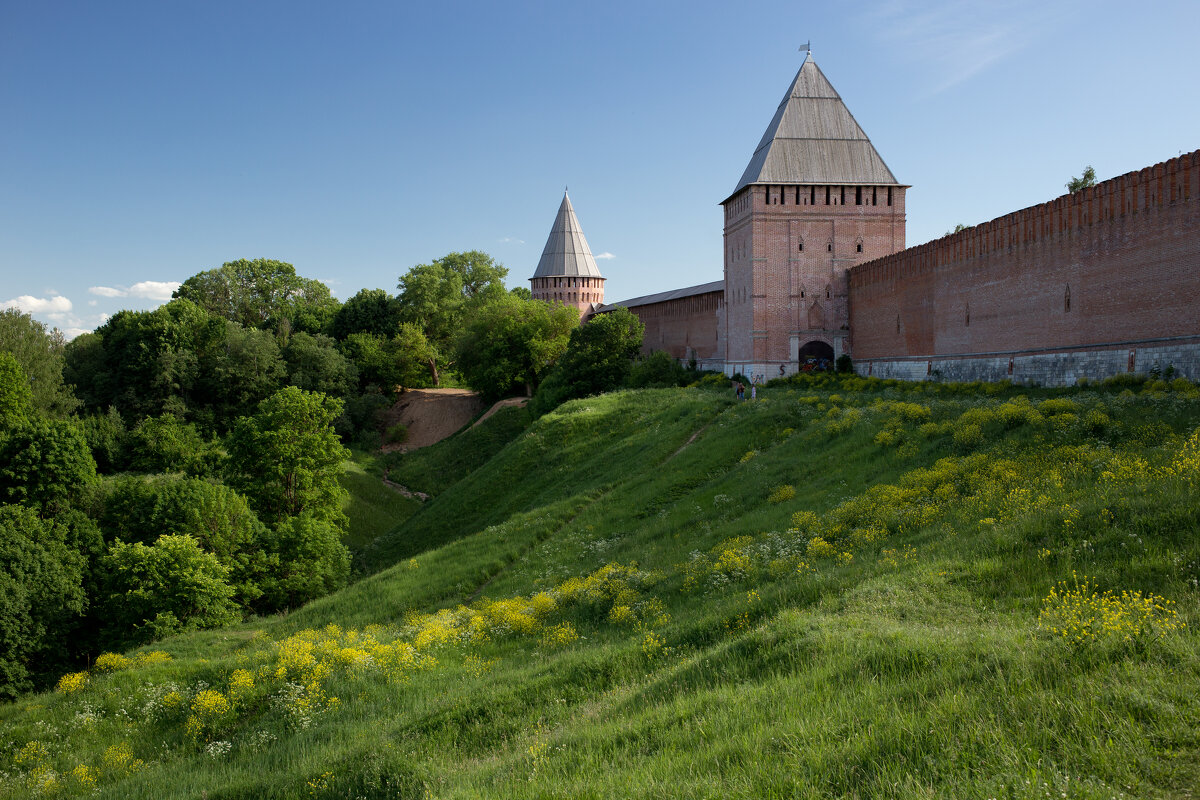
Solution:
[[[811,53],[733,194],[751,184],[900,186]]]

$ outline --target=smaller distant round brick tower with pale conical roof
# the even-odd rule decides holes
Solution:
[[[604,282],[575,217],[571,198],[563,192],[563,204],[558,206],[546,248],[529,278],[533,297],[574,306],[580,317],[586,318],[604,303]]]

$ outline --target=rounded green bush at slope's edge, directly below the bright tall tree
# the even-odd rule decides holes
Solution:
[[[295,608],[346,585],[350,553],[341,531],[304,513],[275,528],[272,542],[278,567],[263,579],[263,603],[271,609]]]

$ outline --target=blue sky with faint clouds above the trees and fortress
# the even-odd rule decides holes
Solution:
[[[0,0],[0,306],[68,336],[238,258],[346,299],[564,185],[606,295],[721,277],[721,211],[814,56],[908,243],[1200,148],[1200,2]]]

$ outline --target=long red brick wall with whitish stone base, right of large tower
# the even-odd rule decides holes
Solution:
[[[1200,378],[1200,150],[850,270],[862,374]]]

